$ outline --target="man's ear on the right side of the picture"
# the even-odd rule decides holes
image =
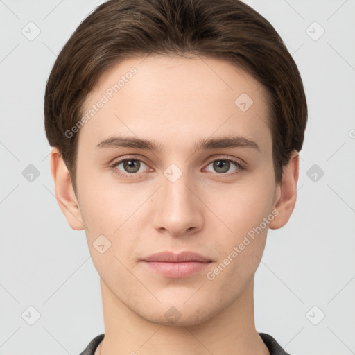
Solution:
[[[272,230],[277,230],[286,225],[295,208],[299,173],[298,164],[298,152],[297,150],[293,150],[288,164],[284,166],[282,182],[277,185],[277,193],[273,208],[277,209],[279,214],[269,223],[269,228]]]

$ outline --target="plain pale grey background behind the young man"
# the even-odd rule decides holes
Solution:
[[[104,331],[85,232],[55,200],[43,117],[56,55],[101,2],[0,1],[0,354],[79,354]],[[293,355],[355,354],[355,1],[245,2],[282,36],[309,104],[295,211],[269,231],[255,277],[257,330]]]

